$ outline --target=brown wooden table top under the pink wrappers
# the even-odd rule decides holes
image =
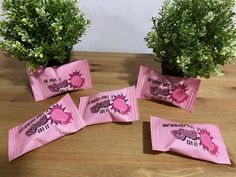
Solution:
[[[140,65],[160,71],[149,54],[75,52],[73,59],[88,59],[93,88],[71,93],[79,96],[115,90],[136,83]],[[194,112],[139,100],[140,121],[85,127],[8,162],[8,129],[45,111],[62,95],[35,102],[23,62],[0,53],[0,177],[173,177],[236,176],[236,62],[223,68],[224,77],[202,79]],[[185,123],[219,126],[231,166],[151,150],[151,115]]]

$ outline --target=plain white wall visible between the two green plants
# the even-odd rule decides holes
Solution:
[[[92,20],[75,50],[106,52],[151,52],[144,37],[150,18],[156,16],[163,0],[78,0],[81,10]]]

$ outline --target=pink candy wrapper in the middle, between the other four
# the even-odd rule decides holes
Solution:
[[[86,125],[136,121],[139,113],[135,87],[81,97],[79,113]]]

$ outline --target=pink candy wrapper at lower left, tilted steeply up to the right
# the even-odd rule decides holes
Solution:
[[[69,94],[44,113],[9,130],[9,161],[53,140],[79,131],[85,123]]]

